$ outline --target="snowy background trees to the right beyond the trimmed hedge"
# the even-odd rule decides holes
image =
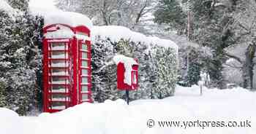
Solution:
[[[255,89],[255,5],[254,0],[160,0],[154,21],[210,49],[210,57],[197,68],[210,77],[208,86],[225,88],[235,83]],[[189,58],[184,61],[192,63]],[[189,71],[193,66],[184,68]]]

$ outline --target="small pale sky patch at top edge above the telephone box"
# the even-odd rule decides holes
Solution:
[[[56,0],[30,0],[29,6],[31,7],[45,7],[45,8],[56,8],[54,6]]]

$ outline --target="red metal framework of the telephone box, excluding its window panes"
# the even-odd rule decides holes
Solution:
[[[55,32],[58,31],[58,25],[66,26],[75,33],[83,33],[90,37],[89,28],[86,28],[83,25],[77,26],[75,28],[70,27],[69,25],[65,24],[53,24],[46,26],[43,31],[44,33],[47,32]],[[52,50],[51,49],[51,42],[56,43],[64,43],[64,50]],[[82,58],[82,48],[81,45],[87,46],[87,59]],[[67,47],[67,49],[66,49]],[[64,52],[64,58],[52,58],[51,55],[53,52]],[[52,61],[62,61],[64,62],[64,67],[54,67],[52,66]],[[87,61],[87,70],[88,74],[86,76],[82,75],[82,60]],[[68,66],[66,66],[68,65]],[[53,69],[63,69],[65,74],[64,75],[53,75]],[[56,71],[56,70],[55,70]],[[59,71],[59,70],[58,70]],[[64,79],[64,83],[52,83],[53,77],[57,79]],[[88,78],[88,92],[82,92],[82,77]],[[69,106],[75,106],[78,103],[83,102],[92,102],[91,99],[91,42],[90,41],[83,41],[81,39],[77,39],[75,36],[71,39],[43,39],[43,86],[44,86],[44,105],[43,110],[45,112],[55,112],[60,111],[61,109],[53,109],[52,103],[63,103],[65,109]],[[64,92],[53,92],[53,87],[62,87]],[[59,88],[58,87],[58,88]],[[61,89],[62,89],[61,88]],[[87,94],[88,100],[83,101],[82,95]],[[61,100],[56,99],[53,100],[53,95],[64,95]],[[67,96],[67,97],[66,97]]]

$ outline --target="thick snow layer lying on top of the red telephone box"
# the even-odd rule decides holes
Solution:
[[[30,7],[30,10],[33,15],[40,15],[44,17],[44,26],[60,23],[71,27],[85,25],[89,29],[92,28],[92,22],[89,17],[78,12],[64,12],[60,9],[48,9],[32,6]]]

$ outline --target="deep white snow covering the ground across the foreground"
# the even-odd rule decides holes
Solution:
[[[123,100],[83,103],[56,114],[18,117],[0,108],[1,134],[255,134],[256,92],[177,87],[176,95],[162,100]],[[154,125],[148,119],[154,120]],[[213,122],[250,122],[247,127],[203,127]],[[204,122],[198,127],[198,122]],[[159,127],[158,121],[181,121],[183,127]],[[187,123],[186,123],[187,122]],[[192,124],[194,122],[194,124]],[[195,127],[188,127],[195,125]],[[202,126],[203,125],[203,126]],[[149,126],[149,127],[148,127]],[[216,125],[215,125],[216,126]]]

